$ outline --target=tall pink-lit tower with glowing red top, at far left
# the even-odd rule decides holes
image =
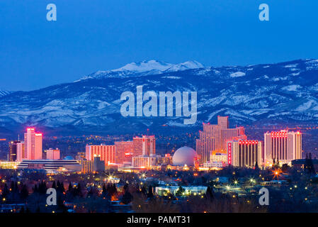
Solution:
[[[35,128],[27,128],[24,133],[26,159],[42,159],[42,133],[35,133]]]

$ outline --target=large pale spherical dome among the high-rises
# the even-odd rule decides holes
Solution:
[[[188,147],[182,147],[176,150],[174,156],[172,156],[172,163],[173,165],[178,166],[193,166],[195,157],[197,157],[195,150]]]

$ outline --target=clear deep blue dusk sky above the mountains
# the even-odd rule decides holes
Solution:
[[[46,6],[57,6],[57,21]],[[259,21],[259,4],[270,21]],[[39,89],[129,62],[206,66],[318,58],[317,0],[0,1],[0,89]]]

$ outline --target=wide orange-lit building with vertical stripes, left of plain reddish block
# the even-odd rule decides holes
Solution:
[[[86,145],[86,160],[100,156],[106,165],[115,163],[115,145]]]

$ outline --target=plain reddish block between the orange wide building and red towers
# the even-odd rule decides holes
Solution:
[[[115,142],[115,163],[123,164],[124,162],[132,162],[132,154],[134,152],[134,143],[132,141]]]

